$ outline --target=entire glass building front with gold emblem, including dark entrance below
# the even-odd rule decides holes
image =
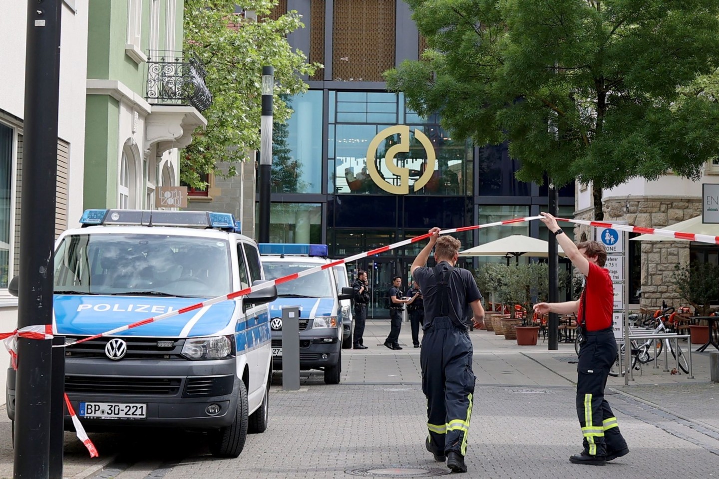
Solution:
[[[273,138],[272,242],[326,243],[331,258],[347,258],[433,226],[460,228],[546,209],[536,185],[516,180],[520,164],[508,157],[506,145],[478,148],[452,139],[438,115],[421,118],[402,93],[324,88],[289,101],[293,116]],[[560,204],[560,215],[571,216],[573,199],[560,198]],[[453,236],[471,248],[513,234],[542,237],[546,228],[515,223]],[[389,315],[392,279],[402,276],[407,289],[424,244],[347,264],[352,279],[367,271],[368,317]],[[459,266],[486,261],[505,259],[462,258]]]

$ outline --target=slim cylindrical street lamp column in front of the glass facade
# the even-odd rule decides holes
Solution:
[[[260,122],[260,243],[270,242],[270,176],[272,175],[272,113],[275,68],[262,67]]]

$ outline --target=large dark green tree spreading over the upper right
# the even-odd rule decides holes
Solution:
[[[716,0],[406,0],[429,50],[385,76],[452,136],[508,143],[519,180],[602,189],[719,152]]]

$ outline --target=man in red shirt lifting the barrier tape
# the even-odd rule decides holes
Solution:
[[[534,311],[543,315],[549,312],[577,314],[577,332],[584,338],[577,363],[577,416],[584,436],[584,450],[569,457],[569,461],[605,465],[629,452],[617,418],[604,399],[607,376],[617,355],[612,331],[614,287],[609,271],[603,268],[607,252],[597,241],[574,245],[554,216],[541,215],[541,222],[557,237],[557,243],[574,267],[585,275],[585,287],[578,301],[534,305]]]

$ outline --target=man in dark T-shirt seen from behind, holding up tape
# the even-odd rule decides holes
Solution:
[[[412,264],[412,277],[422,289],[424,335],[420,354],[422,391],[427,398],[425,447],[437,461],[447,462],[453,473],[466,473],[464,455],[470,432],[475,374],[472,373],[472,341],[464,319],[467,304],[478,323],[485,310],[474,277],[466,269],[455,269],[462,246],[452,236],[439,238],[439,228],[430,230],[429,243]],[[424,266],[436,245],[436,266]]]

